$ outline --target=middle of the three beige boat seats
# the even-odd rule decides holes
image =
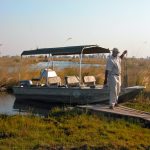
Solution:
[[[78,76],[66,76],[65,82],[68,87],[79,87],[79,77]]]

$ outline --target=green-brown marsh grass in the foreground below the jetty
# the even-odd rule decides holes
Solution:
[[[146,149],[150,130],[79,110],[56,108],[48,118],[0,116],[0,149]]]

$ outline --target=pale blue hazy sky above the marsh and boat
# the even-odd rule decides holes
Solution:
[[[0,55],[97,44],[150,57],[150,0],[0,0]]]

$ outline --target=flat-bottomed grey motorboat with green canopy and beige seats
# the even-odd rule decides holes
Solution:
[[[109,101],[109,89],[107,86],[97,85],[94,76],[82,77],[83,54],[106,54],[109,49],[98,45],[81,45],[56,48],[41,48],[23,51],[21,57],[28,55],[49,54],[49,56],[79,55],[79,76],[66,76],[65,84],[61,84],[61,78],[50,68],[41,71],[39,78],[32,80],[20,80],[19,85],[13,86],[16,99],[25,101],[40,101],[51,104],[84,105],[93,103],[107,103]],[[33,84],[45,78],[45,84]],[[82,81],[83,79],[83,81]],[[134,98],[144,86],[122,87],[119,101]]]

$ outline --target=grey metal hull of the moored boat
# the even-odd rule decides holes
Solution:
[[[132,98],[137,95],[143,87],[125,88],[120,93],[119,100]],[[27,101],[42,101],[61,104],[90,104],[108,102],[108,88],[90,87],[13,87],[16,99]]]

